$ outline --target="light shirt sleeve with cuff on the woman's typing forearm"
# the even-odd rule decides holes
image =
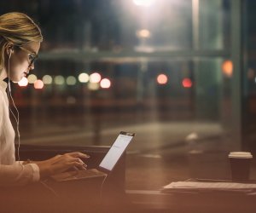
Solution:
[[[39,168],[37,164],[0,165],[0,187],[23,186],[29,182],[38,181]]]

